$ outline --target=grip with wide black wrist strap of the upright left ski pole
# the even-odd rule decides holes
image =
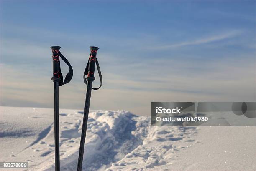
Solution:
[[[58,81],[59,86],[62,86],[64,84],[69,83],[69,81],[72,79],[73,69],[72,69],[72,66],[70,65],[69,61],[59,51],[60,48],[61,48],[60,46],[52,46],[51,47],[52,60],[53,60],[53,77],[51,78],[51,80]],[[63,81],[63,75],[61,73],[59,56],[69,66],[69,72],[67,73],[64,81]]]

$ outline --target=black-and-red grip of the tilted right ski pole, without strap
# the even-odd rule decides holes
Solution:
[[[95,71],[96,55],[97,55],[98,49],[99,49],[98,47],[90,46],[91,53],[88,61],[87,80],[95,80],[94,71]]]

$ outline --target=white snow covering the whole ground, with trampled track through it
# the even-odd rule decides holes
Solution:
[[[60,110],[61,171],[77,167],[83,112]],[[150,126],[128,111],[90,111],[83,170],[253,171],[254,126]],[[54,170],[54,110],[0,107],[0,161]],[[22,169],[17,169],[22,170]]]

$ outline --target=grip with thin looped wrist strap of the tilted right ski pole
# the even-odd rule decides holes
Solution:
[[[97,48],[95,46],[91,46],[90,49],[91,49],[90,57],[89,57],[89,60],[87,62],[87,65],[86,65],[86,68],[85,68],[85,71],[84,71],[84,76],[83,76],[84,77],[84,83],[87,85],[87,80],[91,80],[91,81],[95,80],[94,71],[95,71],[95,63],[96,63],[97,70],[98,70],[98,73],[99,73],[99,76],[100,76],[100,86],[98,88],[93,88],[92,87],[92,89],[93,90],[98,90],[102,86],[102,75],[101,75],[101,72],[100,72],[100,65],[99,65],[99,62],[96,58],[97,50],[99,48]]]

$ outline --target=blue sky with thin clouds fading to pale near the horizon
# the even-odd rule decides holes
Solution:
[[[89,46],[100,48],[103,77],[92,110],[256,101],[256,1],[1,0],[0,24],[1,106],[54,107],[52,45],[74,70],[60,108],[84,108]]]

